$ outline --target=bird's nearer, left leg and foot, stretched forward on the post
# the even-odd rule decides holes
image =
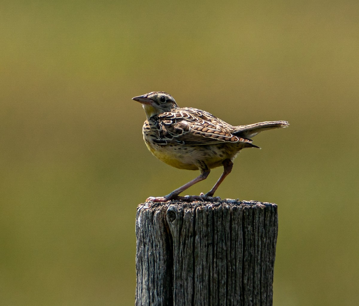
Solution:
[[[185,201],[203,200],[200,196],[189,196],[189,195],[178,196],[181,192],[185,191],[186,189],[193,186],[194,184],[205,180],[208,177],[209,172],[210,172],[210,169],[208,168],[208,166],[202,162],[199,164],[199,168],[200,168],[201,174],[199,176],[197,176],[196,178],[194,178],[192,181],[189,181],[188,183],[181,186],[180,188],[173,190],[168,195],[158,196],[158,197],[150,196],[149,198],[146,199],[146,202],[148,202],[148,201],[166,202],[169,200],[185,200]]]

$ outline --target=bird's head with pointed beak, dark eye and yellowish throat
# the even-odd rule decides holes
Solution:
[[[172,96],[163,91],[152,91],[132,100],[142,103],[147,118],[178,108]]]

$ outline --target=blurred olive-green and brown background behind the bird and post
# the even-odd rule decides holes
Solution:
[[[233,125],[290,122],[256,136],[262,150],[243,150],[216,195],[278,204],[274,305],[355,305],[358,13],[342,0],[3,1],[1,305],[134,304],[137,204],[198,175],[143,143],[131,98],[157,90]]]

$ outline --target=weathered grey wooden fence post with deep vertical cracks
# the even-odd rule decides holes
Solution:
[[[140,204],[136,306],[272,305],[277,234],[272,203]]]

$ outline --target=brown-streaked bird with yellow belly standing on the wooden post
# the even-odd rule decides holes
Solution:
[[[214,193],[232,171],[233,160],[244,148],[260,148],[252,137],[261,131],[287,127],[288,121],[264,121],[233,126],[192,107],[179,107],[174,98],[163,91],[153,91],[132,98],[140,102],[146,113],[143,139],[150,152],[172,167],[199,170],[200,175],[165,196],[150,196],[146,202],[219,201]],[[205,180],[210,169],[223,166],[223,173],[208,193],[180,194]]]

